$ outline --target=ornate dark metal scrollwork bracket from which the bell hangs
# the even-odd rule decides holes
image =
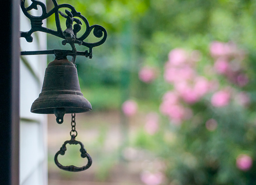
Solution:
[[[29,31],[21,31],[21,37],[24,37],[28,42],[33,41],[32,34],[35,31],[42,31],[46,32],[47,34],[54,35],[56,37],[63,38],[64,40],[62,41],[63,45],[66,45],[66,43],[69,43],[72,49],[72,52],[65,52],[65,55],[67,56],[72,56],[72,62],[75,62],[76,56],[77,55],[82,55],[85,57],[92,58],[93,57],[93,48],[102,45],[106,39],[107,39],[107,31],[104,27],[99,26],[99,25],[93,25],[89,26],[88,20],[81,15],[81,13],[77,12],[76,9],[69,5],[69,4],[60,4],[58,5],[56,0],[52,0],[54,4],[54,8],[49,10],[47,12],[46,6],[44,3],[36,0],[31,0],[32,4],[30,4],[28,7],[25,6],[25,1],[26,0],[21,0],[21,8],[26,17],[30,19],[31,22],[31,29]],[[32,9],[37,10],[38,6],[42,8],[42,15],[40,16],[33,16],[29,14],[29,11]],[[63,12],[59,11],[59,8],[68,8],[69,10],[65,10],[64,14]],[[47,19],[51,15],[55,15],[55,22],[56,22],[56,28],[57,30],[52,30],[49,28],[46,28],[43,26],[43,20]],[[60,20],[59,20],[59,15],[62,17],[66,18],[66,29],[63,31],[61,25],[60,25]],[[82,21],[80,21],[80,18],[86,26],[86,30],[81,37],[77,37],[77,32],[81,30],[81,25],[83,25]],[[73,26],[74,24],[74,26]],[[85,42],[84,40],[90,35],[91,31],[93,31],[93,35],[96,38],[101,38],[97,42],[89,43]],[[89,51],[86,50],[85,52],[77,52],[75,43],[78,45],[83,45],[89,48]],[[45,51],[36,51],[37,54],[31,54],[35,51],[26,51],[22,52],[21,55],[43,55],[44,54],[54,54],[54,53],[48,53]],[[39,54],[38,54],[39,53]]]

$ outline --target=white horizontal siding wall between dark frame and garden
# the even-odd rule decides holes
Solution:
[[[42,1],[44,2],[44,1]],[[30,29],[30,20],[21,10],[21,30]],[[43,26],[46,26],[45,23]],[[46,50],[46,34],[35,32],[33,42],[21,38],[21,50]],[[47,115],[30,113],[43,84],[47,56],[22,56],[20,61],[20,148],[19,184],[46,185]]]

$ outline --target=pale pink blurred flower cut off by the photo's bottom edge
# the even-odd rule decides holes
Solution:
[[[151,173],[149,171],[142,172],[140,179],[147,185],[158,185],[163,181],[163,175],[161,172]]]

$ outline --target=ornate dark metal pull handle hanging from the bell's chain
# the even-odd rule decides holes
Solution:
[[[79,144],[81,146],[80,148],[80,153],[81,153],[81,157],[82,158],[87,158],[88,159],[88,162],[87,162],[87,165],[86,166],[83,166],[83,167],[76,167],[76,166],[73,166],[73,165],[70,165],[70,166],[63,166],[59,163],[58,161],[58,155],[64,155],[65,154],[65,151],[67,150],[66,148],[66,145],[67,144],[70,144],[70,145],[77,145]],[[87,153],[83,143],[75,140],[75,135],[72,135],[71,136],[71,139],[70,140],[66,140],[66,142],[64,142],[63,146],[60,148],[60,150],[55,154],[55,157],[54,157],[54,161],[55,161],[55,164],[57,165],[57,167],[59,167],[60,169],[62,170],[66,170],[66,171],[73,171],[73,172],[76,172],[76,171],[84,171],[86,169],[88,169],[91,164],[93,163],[93,160],[91,159],[90,155]]]

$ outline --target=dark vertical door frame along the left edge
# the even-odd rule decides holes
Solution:
[[[19,184],[19,2],[1,1],[0,184]]]

